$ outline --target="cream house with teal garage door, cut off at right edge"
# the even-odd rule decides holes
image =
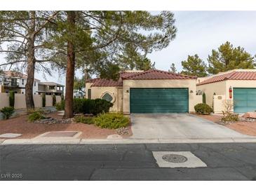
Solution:
[[[206,103],[216,113],[223,110],[220,105],[224,100],[233,102],[233,111],[236,113],[256,111],[256,69],[234,69],[198,78],[196,90],[205,92]],[[220,100],[218,104],[217,100]]]

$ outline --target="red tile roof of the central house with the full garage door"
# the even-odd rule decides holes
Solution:
[[[121,72],[118,81],[106,78],[93,78],[86,81],[86,83],[93,83],[92,87],[117,87],[123,86],[123,79],[137,79],[137,80],[154,80],[154,79],[194,79],[196,76],[185,76],[174,74],[167,71],[160,71],[156,69],[148,71],[134,71],[134,72]]]

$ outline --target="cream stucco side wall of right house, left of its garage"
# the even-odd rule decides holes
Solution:
[[[215,83],[208,83],[204,85],[197,85],[196,90],[201,90],[206,93],[206,104],[213,107],[213,94],[226,95],[226,81],[220,81]]]

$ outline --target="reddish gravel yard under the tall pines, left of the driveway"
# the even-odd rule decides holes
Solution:
[[[48,114],[47,116],[57,119],[62,118],[62,116],[58,116],[57,112]],[[16,137],[15,139],[34,138],[43,134],[44,132],[50,131],[80,131],[82,134],[79,136],[79,138],[94,139],[103,139],[107,138],[108,135],[116,135],[115,130],[98,128],[95,125],[83,123],[57,123],[52,125],[29,123],[27,122],[27,115],[0,121],[0,135],[8,132],[22,134],[20,137]],[[123,135],[123,137],[129,137],[130,135],[132,135],[131,130],[129,130],[128,135]]]

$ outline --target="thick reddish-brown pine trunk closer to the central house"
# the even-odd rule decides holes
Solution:
[[[76,13],[67,11],[67,23],[70,34],[74,34]],[[66,70],[66,93],[65,93],[65,118],[73,117],[73,90],[74,90],[74,42],[72,39],[67,41],[67,70]]]

